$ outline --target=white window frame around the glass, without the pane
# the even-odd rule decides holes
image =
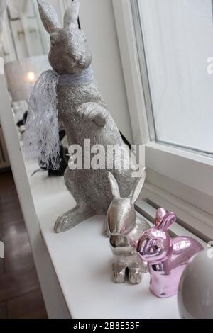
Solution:
[[[212,205],[209,204],[207,207],[204,204],[205,196],[207,196],[207,201],[213,201],[213,158],[210,155],[197,154],[190,149],[155,142],[146,57],[143,41],[140,40],[141,32],[138,36],[133,21],[140,21],[139,16],[137,17],[135,13],[133,16],[133,8],[136,9],[138,4],[135,0],[112,0],[112,3],[129,102],[133,140],[135,144],[142,144],[145,147],[148,180],[141,198],[154,201],[155,205],[164,204],[168,210],[176,208],[175,211],[182,216],[185,225],[191,227],[191,230],[196,229],[199,234],[213,239]],[[141,52],[140,55],[138,52]],[[154,172],[157,176],[152,177],[151,174],[149,175],[149,171]],[[160,178],[162,178],[161,181]],[[173,186],[171,186],[171,182]],[[180,191],[181,186],[182,193],[185,189],[187,190],[185,192],[189,193],[184,200],[182,200]],[[176,204],[173,205],[171,202]],[[193,222],[193,218],[198,222]]]

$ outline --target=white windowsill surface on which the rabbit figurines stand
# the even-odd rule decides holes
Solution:
[[[45,172],[30,175],[38,165],[26,164],[40,230],[58,276],[65,303],[73,319],[176,319],[177,297],[156,298],[149,291],[149,275],[138,286],[111,281],[113,256],[109,240],[102,236],[103,216],[95,216],[74,229],[55,235],[53,225],[75,201],[62,177]],[[54,293],[54,290],[53,290]]]

